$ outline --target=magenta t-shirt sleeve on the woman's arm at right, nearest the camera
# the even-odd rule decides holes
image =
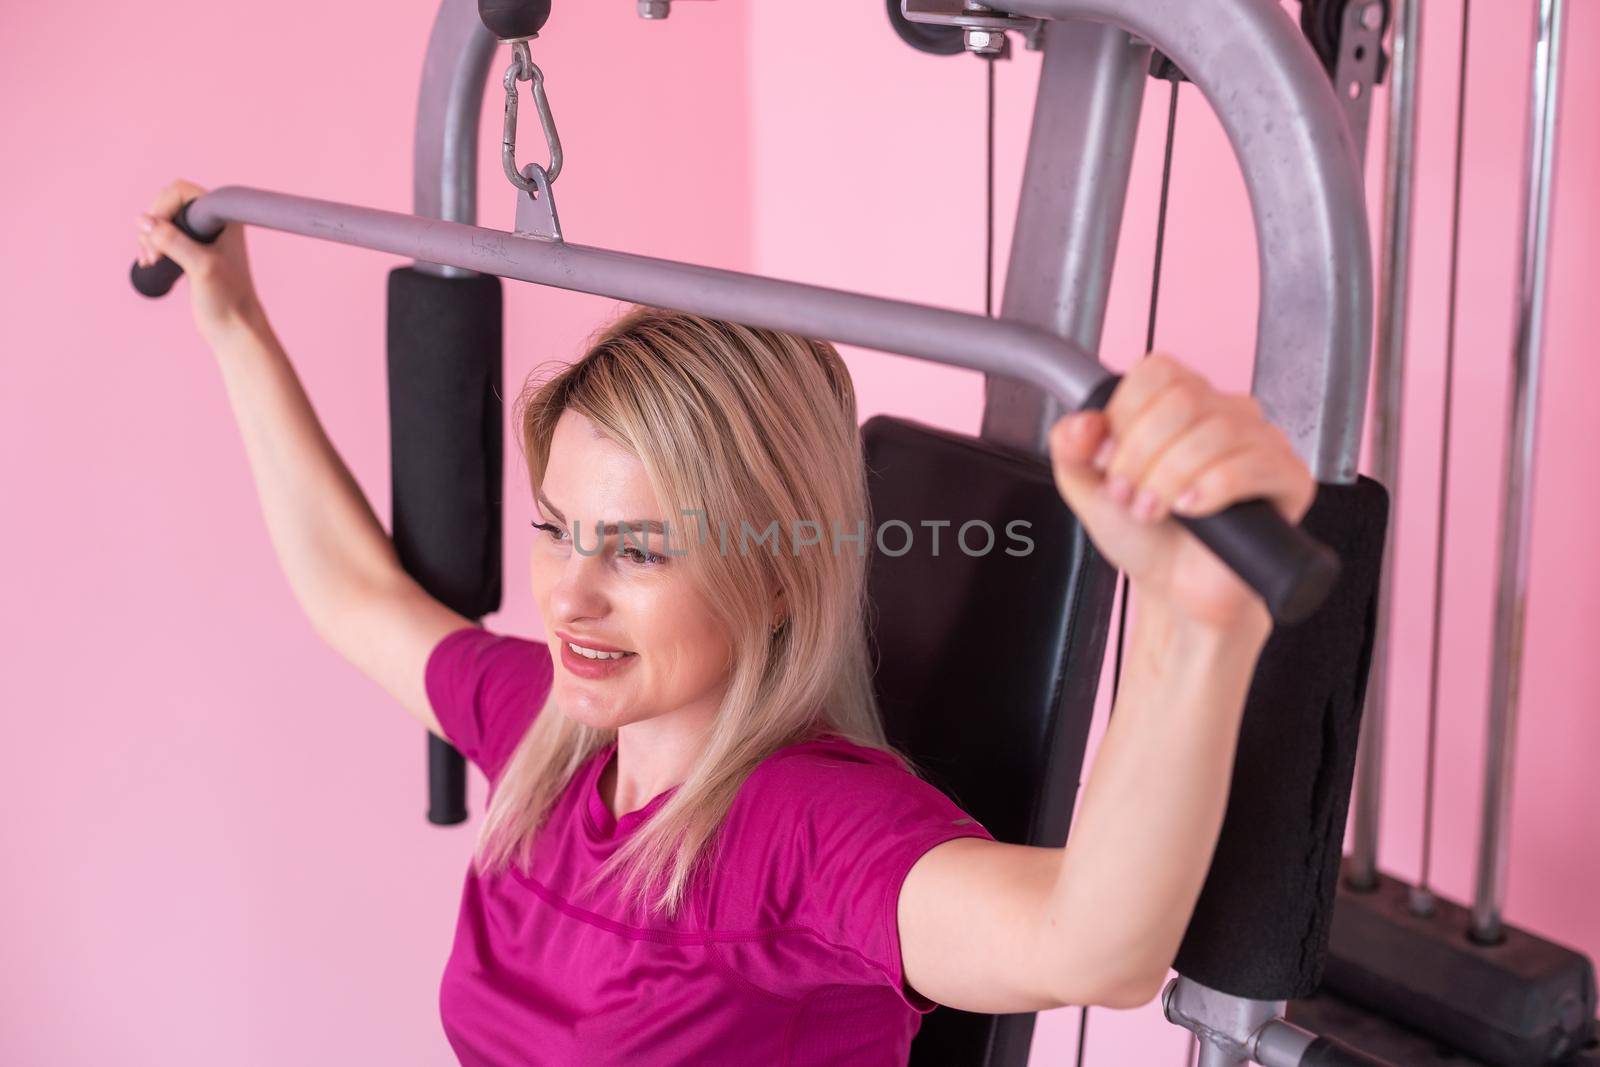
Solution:
[[[886,763],[806,757],[786,760],[789,789],[800,790],[795,870],[797,920],[838,949],[842,984],[886,984],[915,1011],[934,1001],[906,985],[899,941],[899,891],[934,845],[994,840],[931,782]],[[798,781],[797,781],[798,779]]]

